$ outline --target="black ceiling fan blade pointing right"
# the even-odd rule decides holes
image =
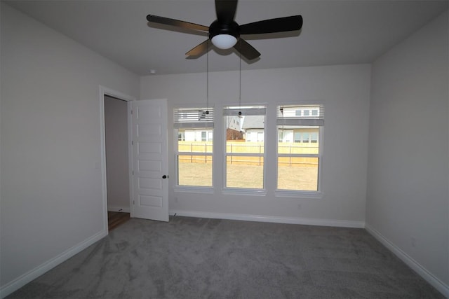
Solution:
[[[240,26],[240,34],[264,34],[274,32],[287,32],[300,30],[302,27],[302,16],[263,20]]]

